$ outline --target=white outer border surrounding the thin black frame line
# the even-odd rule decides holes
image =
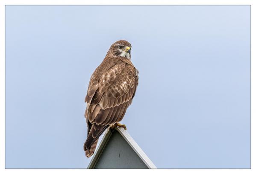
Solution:
[[[256,1],[255,0],[0,0],[0,35],[1,35],[1,40],[0,40],[0,171],[1,173],[19,173],[19,174],[34,174],[35,172],[38,174],[43,174],[46,171],[44,170],[38,170],[38,169],[8,169],[5,170],[5,156],[4,156],[4,150],[5,150],[5,42],[4,42],[4,36],[5,36],[5,5],[29,5],[29,4],[34,4],[34,5],[106,5],[106,4],[119,4],[119,5],[128,5],[128,4],[133,4],[133,5],[251,5],[251,89],[256,89],[256,75],[255,75],[255,68],[256,68],[256,62],[255,62],[255,53],[254,50],[256,50],[255,46],[255,35],[254,35],[254,30],[255,30],[255,15],[256,13],[254,12],[256,9]],[[251,90],[251,106],[256,106],[255,102],[255,90]],[[256,147],[256,136],[255,136],[255,131],[256,131],[256,119],[255,119],[255,107],[251,107],[251,147]],[[251,169],[162,169],[162,170],[147,170],[147,173],[153,173],[153,172],[160,172],[160,173],[170,173],[172,174],[183,174],[183,173],[188,173],[188,174],[215,174],[216,172],[223,174],[223,173],[230,173],[230,174],[248,174],[248,173],[256,173],[256,151],[254,148],[251,148]],[[101,173],[101,172],[106,172],[106,173],[112,173],[113,170],[117,172],[122,172],[122,173],[129,173],[130,170],[122,170],[118,171],[119,169],[109,169],[109,170],[94,170],[95,173]],[[90,170],[91,171],[91,170]],[[67,174],[67,173],[81,173],[85,174],[83,169],[78,169],[78,170],[65,170],[65,169],[59,169],[56,171],[55,169],[49,169],[47,170],[49,173],[55,173],[55,172],[62,172],[62,174]],[[137,171],[136,171],[137,172]],[[138,170],[138,172],[141,172]]]

